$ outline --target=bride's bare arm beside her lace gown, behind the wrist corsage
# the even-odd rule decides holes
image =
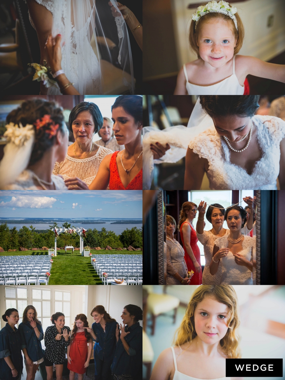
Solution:
[[[41,50],[41,65],[44,63],[44,59],[47,60],[46,51],[44,46],[49,33],[52,29],[52,13],[41,4],[38,4],[35,0],[27,0],[30,17],[36,28],[38,40]],[[41,82],[41,95],[47,94],[47,88]]]

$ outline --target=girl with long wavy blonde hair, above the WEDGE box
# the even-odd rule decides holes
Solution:
[[[225,377],[226,359],[241,357],[237,308],[237,295],[231,285],[198,287],[177,331],[174,347],[162,351],[150,380],[230,380]]]

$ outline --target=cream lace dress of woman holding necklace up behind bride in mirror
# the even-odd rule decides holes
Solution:
[[[226,230],[225,235],[228,235],[230,230]],[[203,285],[220,285],[220,280],[222,276],[222,266],[218,266],[218,271],[216,274],[212,275],[210,273],[209,265],[212,261],[213,256],[213,248],[215,241],[218,239],[218,236],[215,236],[211,231],[203,231],[203,234],[198,234],[196,231],[196,235],[201,244],[204,245],[204,255],[205,255],[205,267],[202,276],[202,284]]]

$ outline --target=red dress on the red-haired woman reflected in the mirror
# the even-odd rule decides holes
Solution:
[[[190,256],[188,255],[186,247],[184,245],[183,232],[182,232],[182,226],[184,225],[184,223],[188,223],[188,222],[185,221],[180,226],[180,237],[181,237],[181,240],[183,243],[184,258],[186,261],[188,271],[190,271],[190,272],[194,271],[193,277],[191,278],[191,281],[190,281],[190,285],[201,285],[202,284],[202,268],[201,268],[200,273],[196,272],[195,265],[193,264],[193,261],[191,260]],[[195,232],[194,228],[192,227],[192,225],[190,223],[188,223],[188,225],[191,228],[190,247],[192,248],[195,259],[198,261],[199,265],[201,266],[200,250],[199,250],[199,247],[197,245],[198,237],[197,237],[196,232]]]

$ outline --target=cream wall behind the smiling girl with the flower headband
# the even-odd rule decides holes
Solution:
[[[191,17],[196,11],[196,8],[187,9],[190,3],[196,3],[196,0],[171,0],[179,68],[197,59],[188,43]],[[268,61],[285,50],[284,0],[248,0],[230,4],[237,8],[245,29],[244,43],[238,54]],[[274,16],[273,25],[268,27],[271,15]]]

